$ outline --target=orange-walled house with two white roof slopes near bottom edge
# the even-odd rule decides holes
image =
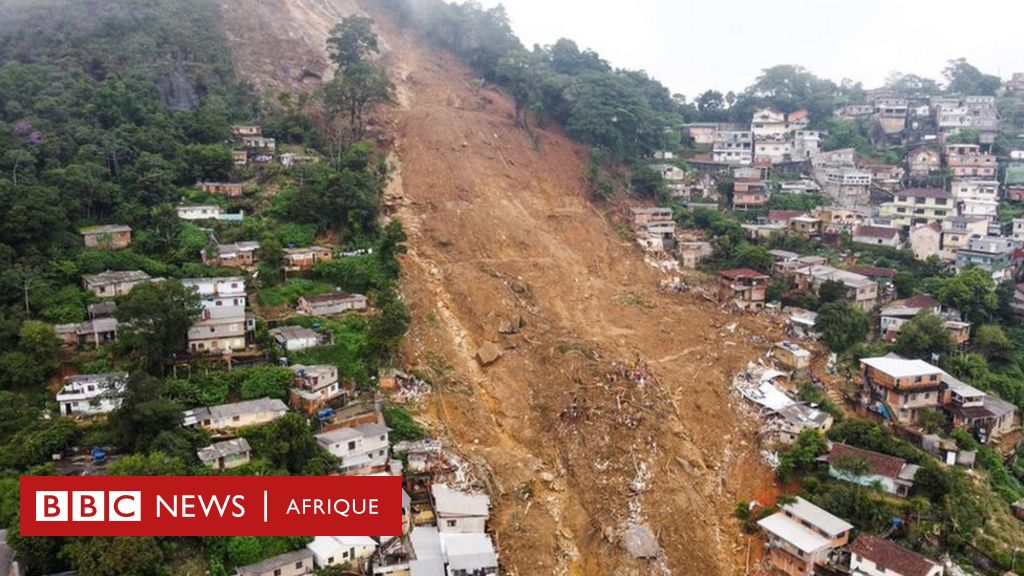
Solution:
[[[815,566],[826,564],[828,553],[845,545],[853,530],[850,523],[800,497],[759,520],[758,526],[768,536],[768,563],[788,576],[814,574]]]

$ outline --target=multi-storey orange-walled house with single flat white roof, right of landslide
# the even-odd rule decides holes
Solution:
[[[896,355],[864,358],[860,372],[871,398],[882,402],[889,416],[902,424],[915,422],[919,412],[934,410],[940,404],[944,372],[923,360]]]

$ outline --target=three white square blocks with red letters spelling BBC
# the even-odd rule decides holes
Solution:
[[[36,492],[36,522],[142,522],[142,493],[76,490]]]

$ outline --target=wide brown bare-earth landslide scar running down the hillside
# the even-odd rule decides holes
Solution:
[[[357,9],[221,2],[245,14],[227,25],[240,69],[278,87],[323,67],[327,31]],[[483,470],[505,569],[743,573],[731,512],[770,475],[728,383],[762,352],[751,337],[772,328],[657,291],[657,274],[584,197],[581,147],[541,130],[535,150],[506,95],[371,13],[399,92],[388,198],[410,232],[406,360],[432,376],[438,430]],[[516,316],[522,329],[500,333]],[[503,356],[482,366],[488,341]],[[626,550],[637,525],[655,560]]]

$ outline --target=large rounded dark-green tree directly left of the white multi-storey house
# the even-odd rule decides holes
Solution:
[[[185,352],[202,310],[196,290],[176,280],[140,284],[118,304],[121,342],[146,370],[163,375],[172,356]]]

